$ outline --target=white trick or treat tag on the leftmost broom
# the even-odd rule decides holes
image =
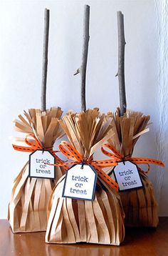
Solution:
[[[48,150],[36,150],[29,155],[29,177],[55,179],[56,158]]]

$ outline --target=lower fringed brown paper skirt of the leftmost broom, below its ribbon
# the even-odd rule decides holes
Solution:
[[[56,180],[28,177],[28,162],[14,180],[8,220],[13,232],[46,231],[47,206],[56,181],[62,177],[56,167]]]

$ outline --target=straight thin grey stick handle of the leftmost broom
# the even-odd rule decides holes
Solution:
[[[49,35],[50,11],[44,11],[44,34],[43,34],[43,70],[41,84],[41,111],[46,111],[46,82],[48,66],[48,35]]]

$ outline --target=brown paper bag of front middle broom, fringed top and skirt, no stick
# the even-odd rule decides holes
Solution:
[[[112,135],[111,120],[105,121],[98,109],[80,114],[69,113],[60,121],[73,147],[87,160]],[[124,213],[120,196],[101,179],[95,189],[95,200],[62,197],[65,176],[49,202],[46,242],[90,242],[120,245],[125,237]]]

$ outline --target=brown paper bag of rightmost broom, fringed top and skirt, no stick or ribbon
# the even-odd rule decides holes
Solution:
[[[113,117],[112,129],[115,132],[108,142],[124,157],[131,157],[137,139],[147,132],[149,116],[140,112],[127,111],[120,117],[120,109],[117,109],[115,114],[108,113],[108,117]],[[125,211],[125,225],[157,227],[158,213],[154,188],[145,172],[139,170],[143,187],[120,192]]]

